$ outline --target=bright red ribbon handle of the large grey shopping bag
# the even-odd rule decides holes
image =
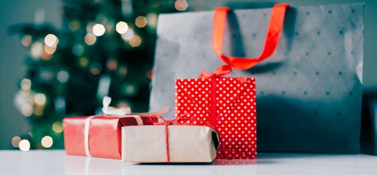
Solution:
[[[271,12],[271,18],[267,29],[266,38],[264,40],[264,47],[262,53],[257,58],[241,58],[226,56],[222,53],[223,38],[225,31],[225,23],[227,18],[227,13],[229,11],[228,7],[219,7],[215,9],[214,19],[213,19],[213,36],[212,45],[215,54],[223,60],[228,65],[235,69],[246,70],[255,66],[257,63],[268,58],[274,52],[277,42],[282,31],[284,24],[284,18],[286,14],[286,9],[291,7],[289,4],[278,4],[273,6]]]

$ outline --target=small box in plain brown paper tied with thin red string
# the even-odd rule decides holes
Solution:
[[[170,162],[211,162],[219,145],[217,132],[207,126],[169,125]],[[166,162],[164,125],[122,127],[122,160]]]

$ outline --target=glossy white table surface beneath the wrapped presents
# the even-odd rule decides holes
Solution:
[[[0,169],[1,174],[377,174],[377,156],[258,153],[257,160],[130,164],[116,159],[65,155],[64,150],[1,150]]]

